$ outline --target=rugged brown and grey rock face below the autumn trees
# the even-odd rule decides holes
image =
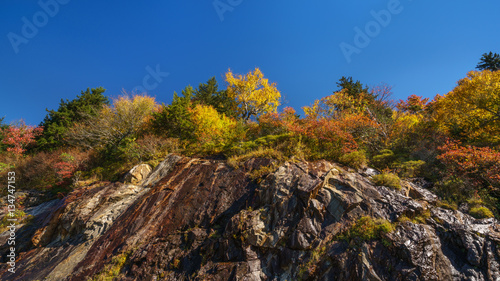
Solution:
[[[435,195],[409,182],[401,191],[374,186],[371,173],[326,161],[250,178],[270,162],[233,169],[170,155],[140,185],[103,183],[34,207],[34,223],[17,232],[16,273],[2,264],[0,278],[500,280],[498,221],[435,207]],[[363,216],[395,230],[338,239]],[[7,245],[0,250],[4,258]]]

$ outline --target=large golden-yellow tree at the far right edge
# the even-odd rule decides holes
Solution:
[[[471,71],[435,105],[444,131],[469,143],[500,144],[500,71]]]

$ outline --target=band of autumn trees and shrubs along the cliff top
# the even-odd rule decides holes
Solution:
[[[103,88],[88,89],[48,110],[39,127],[2,123],[0,172],[18,171],[19,188],[64,196],[172,152],[229,159],[234,167],[249,157],[326,159],[383,170],[377,184],[394,188],[399,178],[424,177],[443,204],[476,198],[475,216],[498,217],[500,72],[488,61],[431,101],[411,95],[394,102],[387,85],[342,77],[333,94],[303,107],[305,116],[278,110],[281,94],[258,68],[229,70],[226,89],[215,78],[187,86],[162,105],[146,94],[110,102]]]

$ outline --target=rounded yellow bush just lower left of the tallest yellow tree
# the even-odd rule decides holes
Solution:
[[[235,120],[220,114],[210,105],[198,104],[190,111],[194,135],[203,145],[223,147],[233,139]]]

